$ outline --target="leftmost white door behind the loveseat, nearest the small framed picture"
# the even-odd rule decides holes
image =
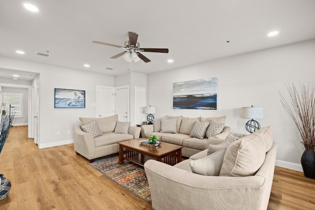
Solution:
[[[104,118],[114,115],[114,88],[97,86],[97,117]]]

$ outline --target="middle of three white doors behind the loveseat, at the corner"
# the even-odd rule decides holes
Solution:
[[[115,88],[115,111],[119,121],[129,121],[129,86]]]

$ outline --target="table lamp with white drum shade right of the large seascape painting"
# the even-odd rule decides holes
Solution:
[[[252,119],[246,122],[246,130],[250,133],[255,130],[260,129],[260,124],[253,119],[263,119],[264,118],[264,108],[263,107],[242,107],[242,118]]]

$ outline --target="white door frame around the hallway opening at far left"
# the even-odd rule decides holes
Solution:
[[[33,138],[32,136],[32,127],[33,127],[33,124],[32,124],[32,115],[33,115],[32,113],[32,86],[0,83],[0,87],[28,89],[28,138]],[[1,101],[2,101],[2,93],[1,93]]]

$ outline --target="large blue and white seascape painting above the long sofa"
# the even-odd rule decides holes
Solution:
[[[217,77],[173,83],[173,109],[217,109]]]

